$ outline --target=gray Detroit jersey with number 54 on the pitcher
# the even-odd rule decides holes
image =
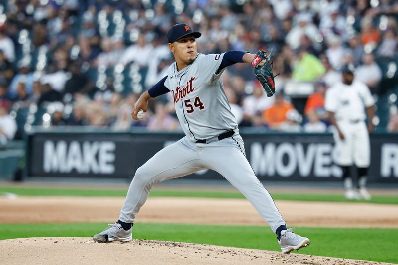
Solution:
[[[198,54],[193,63],[177,71],[173,63],[167,71],[165,87],[173,97],[177,117],[193,142],[211,139],[238,128],[221,74],[216,73],[224,54]]]

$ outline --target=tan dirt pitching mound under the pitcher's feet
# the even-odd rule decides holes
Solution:
[[[94,243],[91,238],[18,238],[0,241],[1,262],[22,264],[312,264],[370,265],[378,262],[336,259],[275,251],[134,239]]]

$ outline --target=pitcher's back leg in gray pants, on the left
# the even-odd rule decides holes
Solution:
[[[202,169],[198,154],[187,148],[181,140],[160,150],[135,172],[119,220],[125,223],[134,222],[154,184]]]

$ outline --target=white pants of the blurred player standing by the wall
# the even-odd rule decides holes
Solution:
[[[341,140],[337,130],[333,137],[337,152],[337,164],[351,166],[355,164],[359,168],[367,168],[370,165],[370,142],[368,129],[364,121],[350,123],[348,121],[337,122],[344,140]]]

